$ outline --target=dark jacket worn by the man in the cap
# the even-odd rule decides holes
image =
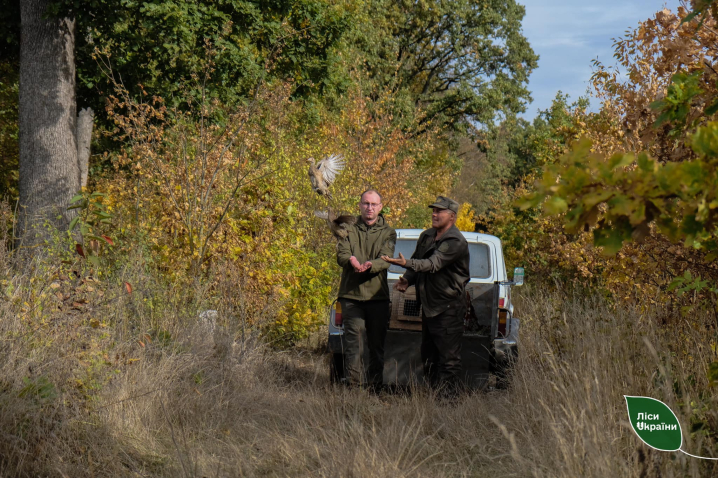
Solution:
[[[416,285],[417,298],[426,317],[435,317],[465,301],[469,271],[469,244],[456,226],[436,238],[436,229],[422,232],[404,278]]]

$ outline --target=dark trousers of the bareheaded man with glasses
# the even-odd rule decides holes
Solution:
[[[364,378],[364,340],[369,348],[369,370],[366,381],[381,385],[384,379],[384,341],[389,327],[388,300],[339,299],[344,320],[344,367],[351,385]]]

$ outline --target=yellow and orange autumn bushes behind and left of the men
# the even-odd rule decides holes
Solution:
[[[334,239],[314,210],[357,213],[361,192],[376,188],[399,227],[416,204],[428,220],[425,205],[452,177],[433,136],[403,130],[388,96],[371,100],[354,88],[338,113],[323,110],[306,128],[290,91],[274,83],[246,105],[195,94],[169,107],[117,84],[107,104],[110,134],[127,146],[94,184],[106,194],[118,252],[146,250],[173,281],[209,281],[237,320],[265,328],[277,344],[323,322],[339,276]],[[307,178],[307,158],[330,153],[347,163],[333,200],[316,195]]]

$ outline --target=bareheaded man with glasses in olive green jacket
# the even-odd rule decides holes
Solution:
[[[389,227],[382,209],[381,195],[369,189],[361,195],[357,223],[349,235],[337,243],[337,264],[342,267],[339,303],[344,320],[344,364],[352,385],[362,381],[362,353],[366,331],[369,348],[367,382],[381,388],[384,373],[384,341],[389,326],[389,264],[381,256],[393,256],[396,231]]]

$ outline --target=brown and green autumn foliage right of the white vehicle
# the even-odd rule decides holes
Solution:
[[[617,66],[594,65],[598,112],[558,97],[528,130],[527,169],[478,217],[513,265],[661,303],[671,322],[713,308],[718,68],[703,13],[639,24],[616,40]]]

